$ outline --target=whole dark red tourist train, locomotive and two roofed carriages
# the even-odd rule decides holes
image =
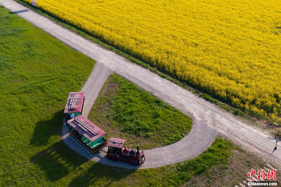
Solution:
[[[141,166],[144,161],[144,151],[125,147],[124,139],[110,138],[107,142],[107,134],[89,119],[83,116],[85,107],[84,92],[70,92],[64,109],[64,119],[69,128],[69,134],[91,153],[104,151],[108,146],[106,158],[112,161],[129,162]]]

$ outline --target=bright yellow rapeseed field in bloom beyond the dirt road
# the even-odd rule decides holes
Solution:
[[[280,120],[280,1],[37,0],[37,6],[248,113]]]

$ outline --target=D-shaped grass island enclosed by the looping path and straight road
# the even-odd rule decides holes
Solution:
[[[112,74],[95,101],[89,119],[129,147],[142,149],[175,143],[189,133],[192,120],[129,81]]]

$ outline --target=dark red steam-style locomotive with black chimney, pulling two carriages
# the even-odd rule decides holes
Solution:
[[[118,138],[110,138],[108,142],[108,151],[106,158],[113,161],[124,161],[130,164],[141,166],[144,163],[144,151],[139,151],[139,146],[137,145],[137,150],[125,147],[125,140]]]

